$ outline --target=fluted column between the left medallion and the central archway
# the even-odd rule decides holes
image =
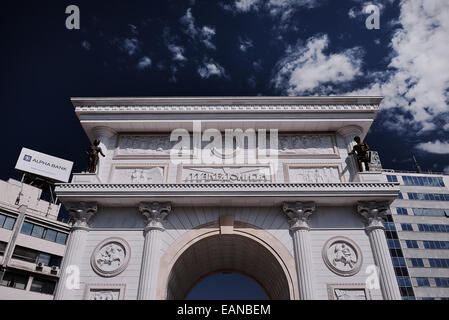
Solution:
[[[171,211],[168,202],[141,203],[140,212],[147,220],[144,229],[145,243],[143,247],[142,265],[140,271],[138,300],[156,300],[157,276],[160,263],[160,242],[165,231],[162,221]]]

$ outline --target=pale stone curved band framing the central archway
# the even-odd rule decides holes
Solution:
[[[287,288],[284,290],[288,290],[288,299],[299,299],[294,257],[290,254],[287,248],[285,248],[285,246],[268,231],[240,221],[236,221],[232,230],[227,230],[225,233],[223,233],[223,230],[220,228],[219,222],[215,221],[200,225],[195,229],[185,232],[181,237],[179,237],[161,257],[156,299],[167,299],[168,286],[172,270],[175,267],[176,262],[183,257],[183,254],[202,241],[207,241],[208,239],[210,240],[214,237],[234,237],[234,239],[239,239],[239,241],[249,241],[253,248],[258,246],[261,250],[260,252],[264,252],[273,258],[275,263],[272,265],[277,264],[277,270],[280,270],[278,277],[279,279],[284,279],[287,284]],[[209,275],[217,270],[210,271],[211,272]],[[253,278],[253,280],[261,285],[267,295],[271,297],[269,290],[263,286],[260,279],[254,278],[251,274],[241,272],[241,270],[234,271]],[[207,275],[203,275],[202,278],[205,276]],[[187,294],[193,285],[199,280],[201,279],[190,279],[192,285],[189,287],[189,290],[183,294]]]

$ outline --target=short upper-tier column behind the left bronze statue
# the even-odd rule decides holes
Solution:
[[[106,156],[105,158],[103,158],[103,156],[99,155],[100,159],[98,161],[97,167],[97,177],[99,181],[101,183],[106,183],[109,176],[108,163],[110,163],[112,154],[116,147],[115,138],[117,137],[117,132],[109,127],[95,127],[92,129],[92,133],[94,135],[93,138],[100,141],[101,150]]]

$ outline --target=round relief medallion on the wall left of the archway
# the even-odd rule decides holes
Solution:
[[[128,266],[131,257],[129,244],[121,238],[102,241],[92,253],[92,269],[102,277],[115,277]]]

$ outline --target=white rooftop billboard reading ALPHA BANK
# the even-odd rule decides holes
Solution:
[[[49,178],[57,182],[69,182],[73,162],[22,148],[16,169]]]

